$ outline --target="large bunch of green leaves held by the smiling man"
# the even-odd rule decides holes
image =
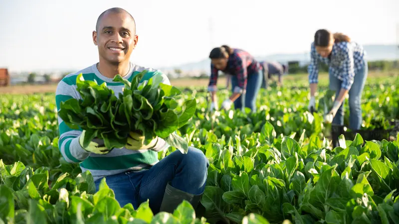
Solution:
[[[163,84],[159,73],[148,82],[141,82],[147,72],[137,74],[132,82],[117,75],[113,81],[125,85],[118,97],[106,83],[98,85],[79,74],[76,86],[82,99],[61,102],[58,115],[69,127],[85,130],[83,146],[99,138],[109,149],[122,148],[133,131],[143,134],[146,141],[156,136],[164,138],[171,146],[187,152],[187,141],[177,135],[176,130],[194,115],[196,99],[180,106],[177,97],[181,91]]]

